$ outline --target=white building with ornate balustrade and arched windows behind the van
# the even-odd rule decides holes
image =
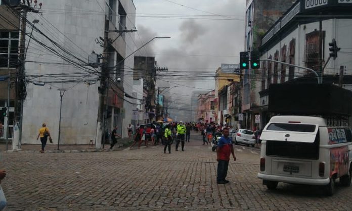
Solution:
[[[341,50],[336,59],[331,58],[326,64],[322,72],[323,83],[338,84],[338,75],[342,68],[345,75],[342,83],[345,88],[350,89],[348,75],[352,73],[352,42],[346,34],[352,30],[351,9],[352,3],[345,1],[297,1],[263,36],[260,59],[269,58],[311,68],[321,74],[319,61],[322,59],[322,67],[328,62],[328,43],[335,39]],[[260,128],[270,119],[267,112],[270,84],[317,83],[317,77],[311,71],[267,61],[261,62],[260,78],[260,85],[255,90],[260,94],[255,99],[255,103],[261,108]]]

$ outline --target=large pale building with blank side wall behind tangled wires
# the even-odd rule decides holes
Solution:
[[[92,51],[104,54],[105,30],[134,29],[135,14],[132,0],[97,0],[84,4],[50,0],[45,2],[42,15],[28,14],[29,21],[39,20],[35,27],[41,32],[33,31],[26,57],[29,83],[23,108],[22,143],[38,143],[36,136],[43,122],[47,123],[54,144],[58,142],[58,89],[66,89],[62,97],[60,144],[87,144],[96,140],[100,147],[97,118],[101,68],[88,66],[88,57]],[[31,29],[28,25],[27,32]],[[133,102],[124,97],[125,94],[133,96],[133,77],[125,74],[131,70],[125,69],[133,67],[134,60],[133,56],[124,59],[134,51],[135,36],[127,32],[107,33],[111,88],[105,97],[106,124],[109,129],[118,125],[118,133],[126,137],[134,107]],[[45,85],[34,85],[41,83]]]

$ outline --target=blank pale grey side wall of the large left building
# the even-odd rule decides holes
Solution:
[[[87,63],[88,55],[94,50],[103,53],[103,48],[95,39],[104,37],[105,1],[89,1],[81,4],[79,1],[51,0],[46,2],[46,9],[42,16],[30,14],[29,21],[38,19],[36,27],[55,40],[59,45],[68,49],[73,56],[62,52],[63,55],[79,64]],[[87,13],[86,11],[90,11]],[[27,30],[30,30],[27,28]],[[43,43],[53,46],[48,39],[33,32],[33,37]],[[57,47],[54,47],[58,49]],[[45,86],[27,85],[27,98],[23,110],[22,143],[40,143],[35,140],[38,129],[43,122],[47,123],[54,139],[58,142],[60,95],[58,88],[65,88],[62,100],[61,138],[62,144],[87,144],[95,140],[97,115],[99,108],[98,76],[87,74],[87,67],[81,69],[68,65],[68,62],[53,55],[33,39],[30,42],[26,63],[27,75],[31,74],[63,74],[81,72],[85,76],[71,76],[66,79],[77,79],[79,83],[50,83],[58,81],[53,77],[40,77],[36,80],[46,82]],[[55,63],[55,64],[49,64]],[[96,69],[93,71],[98,71]],[[87,85],[85,80],[97,80],[96,84]]]

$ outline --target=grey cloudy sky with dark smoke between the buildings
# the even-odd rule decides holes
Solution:
[[[155,56],[158,66],[168,67],[169,71],[157,83],[179,86],[169,91],[173,98],[190,103],[185,95],[194,90],[214,89],[215,82],[210,76],[222,63],[239,63],[239,52],[244,48],[245,0],[135,0],[134,3],[137,45],[154,36],[171,36],[171,39],[155,39],[139,55]]]

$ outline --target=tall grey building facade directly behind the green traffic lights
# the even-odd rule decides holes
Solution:
[[[282,0],[278,4],[273,0],[247,0],[245,20],[244,51],[257,51],[261,45],[261,38],[266,31],[285,13],[294,0]],[[255,115],[259,108],[255,99],[259,97],[256,87],[260,86],[260,70],[246,69],[242,75],[242,104],[244,117],[242,127],[252,129],[255,124]]]

